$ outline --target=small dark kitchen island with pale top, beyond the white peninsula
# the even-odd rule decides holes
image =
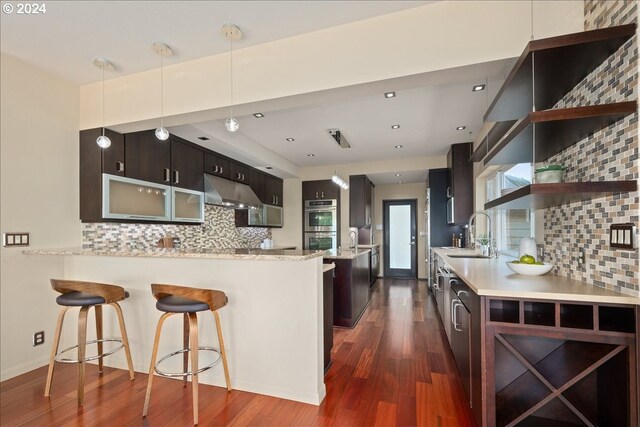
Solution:
[[[333,324],[353,328],[369,304],[371,249],[328,250],[325,263],[336,265],[333,281]]]

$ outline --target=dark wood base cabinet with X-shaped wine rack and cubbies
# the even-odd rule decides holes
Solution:
[[[635,310],[487,298],[487,426],[637,426]]]

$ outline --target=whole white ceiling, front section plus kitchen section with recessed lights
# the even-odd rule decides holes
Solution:
[[[172,62],[226,52],[229,45],[220,28],[229,22],[240,26],[242,47],[248,47],[428,3],[433,2],[55,1],[46,2],[44,15],[0,14],[0,42],[4,53],[82,85],[101,78],[92,64],[95,57],[110,59],[118,77],[157,68],[158,58],[150,51],[153,41],[172,47]],[[443,156],[451,144],[475,138],[511,64],[495,61],[306,94],[284,103],[261,102],[256,108],[265,114],[262,119],[250,114],[257,112],[251,106],[239,106],[237,134],[226,132],[223,120],[170,130],[198,143],[197,136],[207,136],[211,140],[202,145],[261,168],[278,159],[307,167]],[[472,85],[486,78],[489,90],[473,93]],[[395,90],[397,97],[385,99],[387,90]],[[400,128],[392,130],[393,124]],[[456,130],[459,125],[466,129]],[[328,134],[332,128],[342,131],[350,149],[338,147]],[[289,137],[295,142],[287,142]],[[238,152],[238,141],[249,149]],[[275,166],[273,172],[281,170]],[[396,172],[402,178],[385,173],[372,175],[372,180],[419,182],[426,174]]]

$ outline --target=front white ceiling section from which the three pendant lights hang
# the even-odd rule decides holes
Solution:
[[[29,16],[5,3],[14,11],[0,14],[2,52],[86,84],[101,78],[96,57],[118,76],[157,68],[155,41],[172,48],[172,62],[226,52],[226,23],[240,27],[245,48],[433,1],[49,1],[38,2],[46,13]]]

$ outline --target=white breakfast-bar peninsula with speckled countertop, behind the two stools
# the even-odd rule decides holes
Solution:
[[[63,256],[64,277],[123,286],[130,297],[121,303],[134,369],[146,373],[161,313],[155,308],[151,283],[167,283],[223,291],[229,298],[220,310],[233,389],[320,404],[324,386],[322,252],[261,249],[152,249],[92,251],[30,249],[30,256]],[[55,293],[48,283],[42,292]],[[165,323],[159,354],[182,343],[182,319]],[[201,313],[202,345],[217,347],[213,317]],[[54,319],[51,319],[52,324]],[[105,316],[105,336],[117,335],[115,316]],[[63,331],[60,348],[73,345],[74,322]],[[91,328],[89,334],[92,334]],[[90,335],[91,336],[91,335]],[[93,337],[89,338],[93,339]],[[207,364],[207,352],[200,356]],[[181,370],[180,358],[165,369]],[[106,364],[126,368],[122,352]],[[200,374],[205,384],[224,386],[222,366]],[[233,391],[232,391],[233,393]]]

